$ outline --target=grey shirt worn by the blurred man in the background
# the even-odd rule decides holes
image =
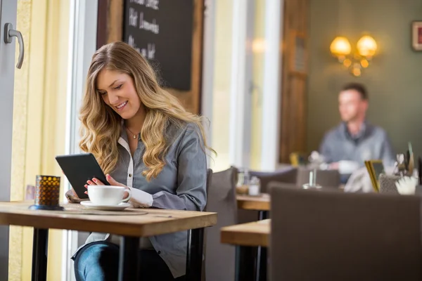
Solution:
[[[387,133],[367,122],[357,136],[351,136],[343,122],[324,136],[319,149],[326,162],[350,160],[364,166],[365,160],[381,159],[385,166],[395,162],[395,156]]]

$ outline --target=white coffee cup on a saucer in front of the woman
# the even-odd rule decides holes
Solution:
[[[129,196],[123,199],[125,191]],[[88,185],[88,196],[92,204],[118,205],[132,197],[132,190],[115,185]]]

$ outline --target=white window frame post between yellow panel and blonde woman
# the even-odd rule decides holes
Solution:
[[[96,51],[97,11],[98,0],[70,1],[66,154],[80,151],[78,112],[91,57]],[[65,186],[70,188],[68,181]],[[86,237],[78,239],[77,231],[64,230],[63,233],[62,280],[70,281],[75,280],[75,274],[69,257],[77,249],[78,240],[81,242]]]

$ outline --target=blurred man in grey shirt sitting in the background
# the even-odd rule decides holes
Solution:
[[[362,84],[345,85],[338,95],[342,122],[326,133],[319,149],[330,168],[343,174],[343,182],[364,166],[365,160],[381,159],[384,166],[395,162],[387,133],[366,121],[368,106],[368,93]]]

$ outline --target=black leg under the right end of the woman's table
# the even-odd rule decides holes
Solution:
[[[202,277],[204,229],[188,230],[186,251],[186,281],[198,281]]]

